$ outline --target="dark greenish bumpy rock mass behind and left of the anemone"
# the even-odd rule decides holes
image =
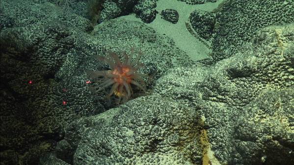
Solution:
[[[90,35],[89,20],[65,15],[52,3],[0,3],[1,21],[6,20],[0,33],[3,165],[37,165],[43,153],[59,146],[56,142],[62,140],[64,127],[108,108],[107,92],[93,95],[86,83],[85,71],[108,69],[93,56],[144,46],[147,55],[142,62],[148,67],[142,72],[152,77],[146,82],[149,85],[170,67],[188,63],[186,53],[171,39],[142,23],[110,21]]]

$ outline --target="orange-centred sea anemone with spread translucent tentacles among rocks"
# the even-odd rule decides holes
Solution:
[[[141,49],[130,48],[129,55],[126,51],[123,51],[121,55],[124,57],[124,61],[119,59],[119,56],[113,51],[107,51],[110,58],[97,56],[98,60],[104,61],[109,65],[111,70],[107,71],[87,71],[87,75],[90,79],[97,79],[98,77],[104,77],[105,82],[92,89],[94,93],[97,93],[108,86],[111,86],[108,98],[112,94],[119,98],[118,102],[123,99],[123,102],[129,100],[134,94],[131,85],[138,87],[143,92],[146,91],[146,85],[142,79],[142,74],[138,73],[138,69],[143,66],[139,62],[142,56]],[[133,59],[134,54],[136,57]]]

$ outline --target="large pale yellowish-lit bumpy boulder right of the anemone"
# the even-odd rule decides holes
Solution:
[[[274,160],[282,159],[288,165],[293,157],[287,151],[294,150],[293,132],[290,131],[294,105],[290,98],[286,101],[287,93],[291,95],[294,92],[293,36],[294,24],[263,28],[257,32],[253,44],[244,45],[242,51],[214,66],[204,67],[199,64],[190,69],[169,70],[168,74],[158,80],[155,91],[163,97],[170,97],[198,109],[206,117],[212,150],[221,163],[257,165],[261,157],[265,156],[260,151],[266,150],[271,157],[268,165],[276,165]],[[280,90],[283,92],[279,92]],[[270,108],[273,104],[270,101],[264,102],[269,99],[270,94],[277,95],[274,102],[280,109]],[[280,97],[285,98],[279,103]],[[284,102],[286,105],[283,105]],[[261,110],[265,116],[258,117],[257,113],[260,112],[254,111],[254,107],[262,104],[265,104],[265,109]],[[250,117],[256,115],[257,118],[265,118],[265,121],[276,119],[272,121],[274,124],[263,123],[248,132],[246,129],[249,129],[252,123],[250,120],[253,120],[253,117],[246,117],[249,112],[256,113]],[[272,117],[271,114],[280,117]],[[277,122],[278,119],[282,119],[280,123]],[[269,129],[268,125],[276,125],[276,129]],[[266,129],[260,135],[262,128]],[[236,137],[237,133],[240,136],[250,133],[247,135],[251,138],[250,142],[246,142],[248,139],[245,137]],[[269,145],[255,141],[253,137],[259,141],[267,141],[263,140],[267,137],[271,141],[270,137],[276,137],[278,143]],[[253,144],[256,150],[248,150],[248,146]],[[274,150],[283,152],[273,154]]]

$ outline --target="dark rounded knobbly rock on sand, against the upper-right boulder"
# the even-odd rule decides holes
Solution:
[[[190,14],[189,22],[201,38],[205,40],[212,38],[215,24],[213,13],[195,10]]]

